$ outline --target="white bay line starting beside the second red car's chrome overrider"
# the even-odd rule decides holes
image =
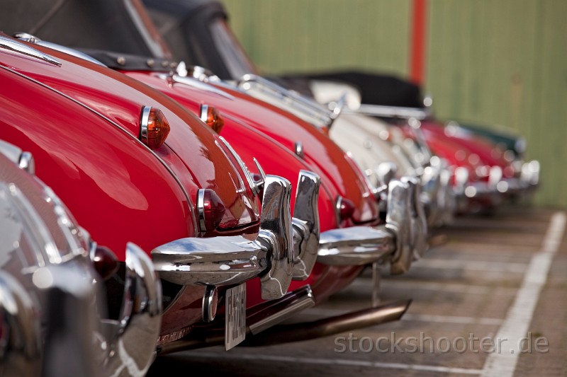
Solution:
[[[524,273],[527,264],[512,262],[484,262],[478,260],[447,260],[423,258],[414,262],[412,268],[436,268],[436,269],[473,269],[476,271],[489,272],[517,272]]]

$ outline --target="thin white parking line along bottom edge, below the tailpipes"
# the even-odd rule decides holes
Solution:
[[[400,363],[381,363],[380,361],[364,361],[352,359],[315,359],[312,357],[277,356],[266,354],[236,354],[236,353],[215,353],[215,352],[184,352],[184,355],[193,356],[199,359],[227,359],[227,360],[252,360],[252,361],[281,361],[290,364],[321,364],[325,366],[363,366],[366,368],[377,369],[405,369],[410,371],[428,371],[439,373],[460,373],[460,374],[480,374],[481,369],[450,368],[448,366],[420,365],[420,364],[400,364]]]

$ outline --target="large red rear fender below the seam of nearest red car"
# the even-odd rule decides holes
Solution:
[[[196,234],[189,199],[145,146],[33,81],[0,78],[2,139],[33,153],[38,177],[101,245],[124,260],[128,241],[149,251]]]

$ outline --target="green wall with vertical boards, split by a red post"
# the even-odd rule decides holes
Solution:
[[[224,0],[266,73],[408,76],[410,0]],[[539,204],[567,207],[567,1],[430,0],[425,88],[437,117],[512,129],[542,166]]]

